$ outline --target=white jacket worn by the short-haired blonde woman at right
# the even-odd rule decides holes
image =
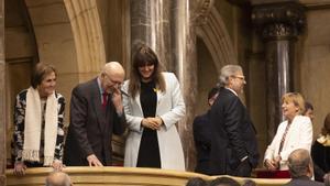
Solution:
[[[279,143],[287,124],[288,121],[284,121],[278,125],[277,132],[272,143],[268,145],[265,152],[264,161],[266,158],[273,160],[278,155]],[[292,122],[292,125],[289,127],[289,130],[286,134],[286,139],[283,144],[282,152],[279,153],[282,158],[279,163],[280,169],[288,169],[287,158],[293,151],[297,149],[305,149],[310,152],[311,143],[312,143],[312,125],[310,119],[304,116],[296,116]]]

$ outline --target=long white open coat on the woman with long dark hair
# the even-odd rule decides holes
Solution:
[[[175,75],[173,73],[163,73],[163,76],[166,83],[166,92],[157,90],[156,107],[156,116],[161,117],[164,122],[161,129],[157,130],[161,164],[164,169],[185,171],[183,146],[175,123],[185,116],[186,107]],[[129,92],[129,83],[127,80],[123,85],[125,92]],[[143,127],[141,125],[143,111],[140,94],[136,94],[135,98],[123,96],[123,106],[129,128],[124,166],[135,167],[143,132]]]

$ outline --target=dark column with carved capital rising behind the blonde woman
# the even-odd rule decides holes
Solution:
[[[306,18],[300,3],[283,2],[254,6],[252,21],[265,44],[267,136],[271,141],[283,120],[282,96],[293,91],[295,41]]]

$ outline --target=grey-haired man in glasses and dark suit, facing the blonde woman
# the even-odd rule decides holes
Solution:
[[[211,107],[210,171],[212,175],[250,176],[258,161],[256,131],[238,94],[245,85],[239,65],[222,67],[220,90]]]

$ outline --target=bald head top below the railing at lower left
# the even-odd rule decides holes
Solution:
[[[72,186],[72,180],[66,173],[53,172],[46,178],[46,186]]]

